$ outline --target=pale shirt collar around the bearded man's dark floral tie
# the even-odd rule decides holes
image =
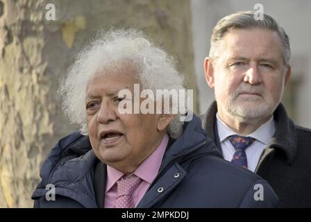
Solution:
[[[227,137],[237,134],[219,118],[218,112],[216,118],[220,142],[224,142]],[[257,130],[255,130],[255,132],[246,135],[246,137],[253,137],[259,142],[262,142],[262,144],[267,145],[276,131],[274,124],[274,117],[272,116],[267,122],[263,123]]]

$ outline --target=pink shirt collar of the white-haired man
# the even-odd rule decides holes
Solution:
[[[151,153],[151,155],[149,155],[149,157],[146,158],[146,160],[144,160],[144,162],[142,162],[142,164],[140,164],[140,167],[138,167],[133,174],[151,184],[155,176],[158,174],[168,142],[169,136],[165,133],[160,145],[155,149],[155,151],[153,151],[153,153]],[[124,173],[113,167],[107,166],[108,180],[106,192],[110,190],[122,176],[124,176]]]

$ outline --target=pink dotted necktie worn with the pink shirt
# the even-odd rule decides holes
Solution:
[[[142,179],[131,175],[126,178],[122,177],[117,181],[117,200],[115,200],[116,208],[134,208],[133,192],[142,182]]]

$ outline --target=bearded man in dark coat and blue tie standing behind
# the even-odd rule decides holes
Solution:
[[[280,103],[289,58],[289,37],[269,15],[219,20],[204,62],[216,101],[201,120],[224,159],[267,180],[280,207],[311,207],[311,130],[295,126]]]

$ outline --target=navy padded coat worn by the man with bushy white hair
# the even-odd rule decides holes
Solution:
[[[92,151],[87,136],[61,139],[42,165],[33,193],[35,207],[103,207],[107,167]],[[46,186],[55,186],[48,201]],[[262,185],[262,200],[258,197]],[[260,192],[258,193],[260,194]],[[49,194],[48,194],[49,195]],[[201,121],[185,123],[183,135],[167,148],[160,171],[137,207],[276,207],[267,181],[221,158]]]

